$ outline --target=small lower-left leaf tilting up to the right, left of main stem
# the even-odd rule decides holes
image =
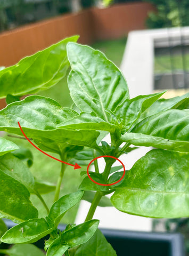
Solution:
[[[57,226],[65,212],[67,212],[71,207],[80,202],[83,194],[83,191],[77,191],[75,193],[62,196],[52,205],[48,217],[51,218]]]

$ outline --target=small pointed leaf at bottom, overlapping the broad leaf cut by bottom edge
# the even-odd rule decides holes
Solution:
[[[47,251],[47,256],[62,256],[70,247],[86,243],[95,233],[99,220],[89,220],[64,231],[56,238]]]

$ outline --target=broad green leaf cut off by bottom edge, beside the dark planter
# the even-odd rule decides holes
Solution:
[[[113,250],[111,244],[107,242],[102,232],[97,229],[94,236],[83,245],[80,245],[74,256],[116,256],[116,251]],[[72,254],[71,254],[72,255]]]

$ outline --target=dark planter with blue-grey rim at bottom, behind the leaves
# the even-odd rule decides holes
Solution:
[[[15,224],[6,221],[11,228]],[[60,230],[65,226],[60,225]],[[118,256],[185,256],[184,239],[179,233],[153,233],[124,231],[114,229],[101,229],[108,242],[116,250]],[[35,243],[44,249],[44,237]],[[5,246],[1,244],[1,246]]]

